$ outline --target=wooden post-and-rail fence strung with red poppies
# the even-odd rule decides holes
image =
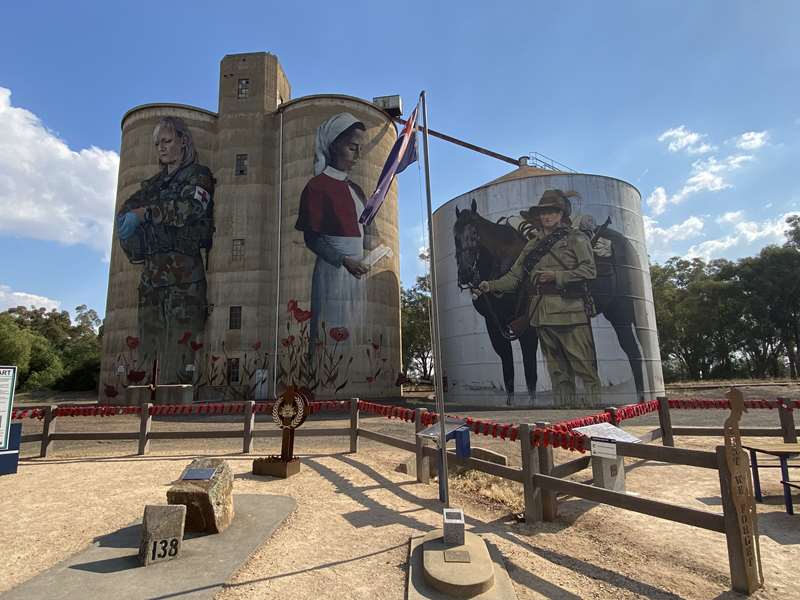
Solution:
[[[746,406],[752,409],[775,409],[778,412],[780,427],[745,427],[741,428],[743,436],[782,437],[787,443],[795,443],[800,432],[795,426],[793,409],[800,408],[800,400],[780,398],[773,400],[748,400]],[[728,556],[731,570],[731,582],[736,591],[748,592],[748,582],[742,574],[744,564],[744,548],[741,544],[740,524],[731,512],[733,510],[731,475],[725,464],[724,449],[721,446],[716,452],[704,452],[675,448],[675,436],[722,436],[721,427],[674,427],[671,410],[676,409],[728,409],[726,400],[706,399],[672,399],[658,398],[623,407],[612,407],[603,413],[570,419],[557,423],[539,422],[504,424],[492,421],[467,418],[466,423],[476,434],[508,439],[519,442],[521,468],[500,465],[476,458],[457,456],[448,451],[448,463],[475,469],[483,473],[502,477],[522,483],[525,501],[525,518],[529,522],[553,521],[558,514],[557,494],[569,494],[593,502],[608,504],[617,508],[638,512],[693,527],[724,533],[728,545]],[[367,439],[394,448],[399,448],[416,455],[417,480],[428,482],[430,460],[436,458],[438,450],[415,436],[409,441],[396,436],[365,429],[360,424],[361,413],[397,418],[414,422],[415,431],[435,423],[439,415],[426,409],[411,410],[403,407],[386,406],[363,402],[357,398],[350,401],[324,401],[312,403],[312,413],[320,410],[349,410],[350,426],[339,428],[301,428],[297,430],[300,437],[340,436],[349,437],[350,452],[358,451],[359,439]],[[143,404],[141,407],[59,407],[48,406],[43,409],[17,409],[12,418],[40,418],[42,432],[22,436],[23,443],[39,442],[40,456],[45,457],[53,450],[56,441],[68,440],[137,440],[139,454],[147,454],[152,440],[175,439],[242,439],[242,451],[253,451],[255,438],[279,437],[278,429],[255,429],[255,415],[271,411],[271,405],[245,402],[236,405],[199,405],[199,406],[153,406]],[[712,513],[694,508],[679,506],[669,502],[652,500],[615,492],[585,483],[566,480],[591,465],[590,456],[582,456],[561,464],[555,464],[554,448],[564,448],[585,452],[587,439],[573,431],[575,427],[592,423],[619,424],[622,421],[658,411],[659,427],[644,433],[640,438],[644,443],[632,444],[617,442],[617,454],[631,458],[641,458],[666,462],[669,464],[700,467],[716,470],[719,475],[720,494],[723,499],[723,514]],[[59,417],[77,416],[114,416],[140,415],[138,432],[58,432],[56,425]],[[242,415],[242,429],[215,431],[152,431],[153,416],[170,415],[205,415],[224,414]],[[661,440],[662,445],[648,442]]]

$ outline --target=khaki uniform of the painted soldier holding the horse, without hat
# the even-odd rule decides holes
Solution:
[[[599,398],[600,379],[585,295],[580,290],[580,284],[596,276],[592,247],[583,233],[570,229],[528,274],[524,266],[525,257],[544,237],[540,230],[536,230],[508,273],[488,282],[489,291],[496,294],[515,292],[528,278],[532,290],[528,318],[539,335],[555,405],[575,406],[580,403],[576,401],[576,375],[583,381],[586,394],[581,400],[593,403]],[[554,272],[555,282],[540,285],[538,277],[543,271]]]

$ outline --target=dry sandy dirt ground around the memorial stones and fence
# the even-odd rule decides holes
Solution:
[[[759,390],[748,396],[766,394]],[[675,416],[698,422],[708,420],[710,412]],[[773,411],[761,412],[748,417],[777,425]],[[720,421],[721,413],[715,417]],[[500,418],[517,420],[511,416]],[[555,416],[529,414],[527,420]],[[316,419],[304,427],[346,426],[343,417]],[[652,427],[651,417],[626,423],[626,428],[644,432]],[[362,426],[409,440],[413,436],[412,425],[397,421],[368,417]],[[25,433],[40,427],[38,421],[24,422]],[[138,417],[62,417],[57,427],[135,431]],[[264,422],[257,426],[270,427]],[[156,431],[200,428],[241,430],[241,424],[204,418],[154,425]],[[697,449],[718,443],[712,438],[677,441]],[[259,438],[254,456],[274,453],[278,444],[274,438]],[[518,444],[473,438],[473,445],[503,452],[519,464]],[[234,493],[285,494],[297,500],[298,508],[217,598],[404,598],[409,537],[440,523],[437,487],[395,471],[411,456],[406,452],[366,440],[357,454],[346,449],[345,438],[298,438],[303,468],[284,481],[253,476],[252,457],[240,453],[241,442],[235,439],[153,441],[143,457],[133,454],[136,442],[57,442],[46,459],[35,458],[38,444],[25,444],[19,473],[0,477],[0,592],[129,525],[141,517],[144,504],[164,503],[167,488],[192,458],[222,456],[236,473]],[[558,451],[556,462],[574,457]],[[630,492],[721,511],[715,471],[639,460],[629,460],[627,471]],[[573,479],[590,477],[586,470]],[[800,516],[785,514],[778,480],[775,469],[762,474],[766,502],[758,511],[765,588],[753,596],[759,599],[800,598]],[[800,498],[795,501],[800,512]],[[470,475],[451,479],[451,503],[464,508],[473,532],[500,549],[520,599],[739,597],[729,591],[725,539],[718,533],[572,497],[560,497],[556,522],[528,526],[513,517],[521,503],[518,484]]]

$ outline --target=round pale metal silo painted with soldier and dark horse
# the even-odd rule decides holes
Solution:
[[[542,251],[540,264],[569,271],[577,264],[570,263],[570,248],[578,254],[583,248],[591,257],[584,261],[592,263],[585,269],[589,275],[556,275],[549,285],[537,279],[528,289],[476,297],[466,289],[470,283],[499,279],[531,238],[544,237],[536,216],[542,209],[531,207],[548,190],[567,198],[570,223],[566,237],[555,242],[563,252],[561,246]],[[521,166],[439,207],[433,225],[448,401],[603,407],[663,395],[641,196],[635,187],[611,177]],[[580,287],[564,283],[570,279]],[[541,311],[537,299],[553,313],[545,319],[548,325],[514,334],[510,321],[526,310],[529,315]],[[575,317],[574,310],[572,321],[555,314],[559,306],[576,302],[585,317]],[[588,326],[583,345],[570,338],[577,326],[553,324],[581,320]]]

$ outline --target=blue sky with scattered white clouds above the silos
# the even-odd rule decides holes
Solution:
[[[651,259],[738,258],[800,211],[792,1],[12,2],[0,37],[0,310],[103,314],[122,115],[215,111],[219,61],[276,54],[299,97],[428,92],[430,126],[642,193]],[[432,140],[434,207],[510,165]],[[794,168],[793,168],[794,167]],[[401,276],[424,184],[400,176]]]

